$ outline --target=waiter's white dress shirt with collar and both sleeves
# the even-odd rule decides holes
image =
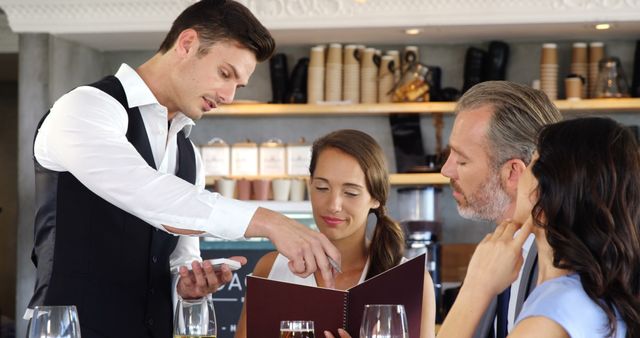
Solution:
[[[257,207],[205,190],[202,159],[195,147],[196,184],[175,176],[177,134],[184,129],[188,136],[195,123],[178,113],[169,127],[167,108],[135,70],[123,64],[115,76],[129,107],[140,109],[157,169],[127,141],[124,107],[90,86],[78,87],[55,102],[35,139],[38,163],[72,173],[98,196],[162,231],[164,224],[204,231],[206,236],[243,239]],[[199,257],[198,238],[181,236],[171,266]]]

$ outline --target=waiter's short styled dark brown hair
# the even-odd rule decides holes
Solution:
[[[216,42],[237,42],[252,51],[258,62],[273,54],[276,43],[271,33],[244,5],[233,0],[201,0],[187,7],[176,18],[160,45],[164,54],[185,29],[194,29],[200,39],[199,55],[205,55]]]

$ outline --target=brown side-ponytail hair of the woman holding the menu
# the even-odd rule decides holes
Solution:
[[[400,225],[387,215],[389,196],[389,173],[384,152],[380,145],[368,134],[359,130],[342,129],[329,133],[313,143],[309,173],[313,177],[320,153],[327,148],[335,148],[355,158],[364,172],[367,190],[371,197],[380,202],[369,213],[376,215],[376,228],[369,246],[369,272],[367,279],[374,277],[398,264],[404,252],[404,233]]]

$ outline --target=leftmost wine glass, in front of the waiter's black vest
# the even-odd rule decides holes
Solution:
[[[36,306],[28,338],[81,338],[78,310],[73,305]]]

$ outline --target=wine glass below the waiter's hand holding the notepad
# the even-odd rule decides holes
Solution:
[[[173,320],[174,338],[215,338],[216,331],[216,312],[211,298],[178,300]]]

